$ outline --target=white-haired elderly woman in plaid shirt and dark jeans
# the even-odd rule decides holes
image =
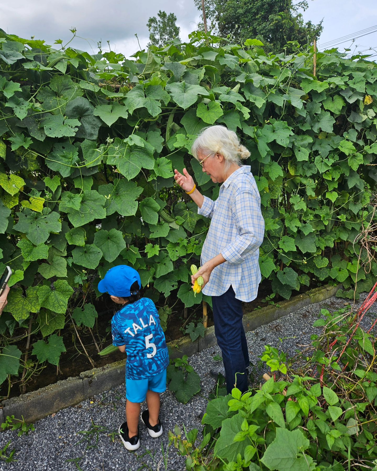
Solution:
[[[264,235],[261,199],[250,166],[240,165],[250,152],[235,132],[225,126],[202,130],[191,149],[203,171],[222,183],[216,201],[203,196],[183,169],[174,179],[197,203],[198,214],[211,219],[202,249],[201,268],[191,281],[203,276],[203,293],[212,296],[217,343],[222,352],[227,391],[247,390],[250,363],[242,325],[242,301],[256,298],[261,272],[259,246]],[[242,354],[241,354],[242,352]]]

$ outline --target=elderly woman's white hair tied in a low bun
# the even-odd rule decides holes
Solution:
[[[239,165],[241,159],[247,159],[250,152],[241,146],[237,134],[219,124],[208,126],[200,131],[191,146],[191,154],[198,159],[198,153],[205,155],[221,154],[225,159],[225,171],[232,164]]]

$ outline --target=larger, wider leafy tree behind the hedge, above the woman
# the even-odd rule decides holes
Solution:
[[[201,10],[201,0],[194,1]],[[304,45],[319,38],[322,22],[304,23],[299,13],[308,7],[306,0],[296,4],[293,0],[205,0],[206,16],[221,36],[260,39],[273,52],[290,49],[291,41]]]

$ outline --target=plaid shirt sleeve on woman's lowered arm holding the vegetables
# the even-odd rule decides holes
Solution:
[[[243,191],[235,196],[231,209],[238,236],[221,254],[230,263],[238,264],[245,260],[246,255],[255,252],[263,242],[261,199],[252,191]]]

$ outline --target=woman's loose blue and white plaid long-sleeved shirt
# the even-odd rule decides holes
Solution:
[[[232,285],[237,299],[252,301],[261,281],[258,259],[264,220],[250,166],[243,165],[224,181],[216,201],[205,196],[198,214],[212,219],[201,264],[219,253],[227,260],[213,269],[203,293],[220,296]]]

